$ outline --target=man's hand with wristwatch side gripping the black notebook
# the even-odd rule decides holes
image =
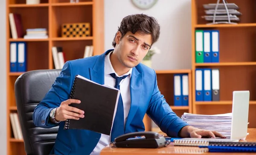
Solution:
[[[84,118],[84,111],[69,106],[69,104],[71,103],[79,104],[81,103],[81,101],[75,99],[68,99],[61,102],[61,105],[56,109],[56,121],[66,121],[67,119],[79,120],[79,118]]]

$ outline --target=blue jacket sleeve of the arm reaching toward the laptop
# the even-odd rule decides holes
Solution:
[[[154,79],[154,90],[148,105],[147,114],[169,137],[179,137],[180,129],[189,124],[179,118],[172,111],[169,104],[166,103],[164,96],[158,89],[155,72]]]

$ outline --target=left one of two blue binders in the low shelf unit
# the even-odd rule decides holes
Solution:
[[[174,106],[182,106],[182,78],[181,75],[174,75]]]

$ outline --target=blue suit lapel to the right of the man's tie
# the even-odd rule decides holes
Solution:
[[[125,124],[125,133],[129,132],[128,126],[130,126],[130,123],[133,120],[134,115],[137,112],[137,109],[139,107],[142,87],[143,87],[143,72],[140,73],[136,69],[136,67],[134,67],[131,74],[131,84],[130,84],[131,108]]]

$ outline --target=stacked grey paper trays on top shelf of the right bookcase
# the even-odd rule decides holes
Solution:
[[[214,12],[215,12],[215,7],[217,3],[209,3],[209,4],[204,4],[204,9],[205,9],[205,14],[202,16],[207,21],[213,21],[214,20]],[[227,5],[227,10],[225,8],[224,3],[219,3],[218,8],[216,9],[215,12],[215,21],[224,21],[228,22],[228,14],[230,16],[230,21],[233,22],[238,22],[239,16],[241,15],[241,12],[238,11],[239,7],[235,3],[226,3]]]

